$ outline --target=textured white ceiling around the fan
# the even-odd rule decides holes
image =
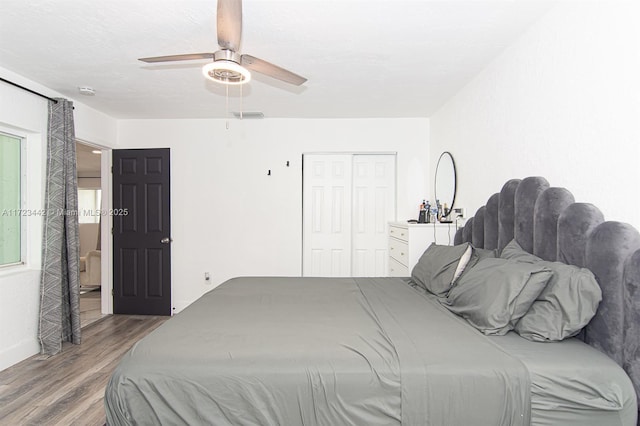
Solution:
[[[428,117],[555,1],[245,0],[241,52],[307,77],[253,73],[229,110],[265,117]],[[0,67],[115,118],[222,118],[206,61],[215,0],[1,0]],[[91,86],[94,97],[81,97]],[[242,103],[242,104],[241,104]]]

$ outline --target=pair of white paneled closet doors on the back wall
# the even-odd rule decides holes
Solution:
[[[395,155],[305,154],[303,276],[385,276]]]

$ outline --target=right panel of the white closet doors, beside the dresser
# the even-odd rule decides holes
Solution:
[[[353,156],[351,275],[387,275],[387,224],[395,219],[395,156]]]

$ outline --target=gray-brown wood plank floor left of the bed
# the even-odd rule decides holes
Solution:
[[[0,425],[104,425],[102,398],[122,355],[169,317],[111,315],[82,329],[82,344],[0,372]]]

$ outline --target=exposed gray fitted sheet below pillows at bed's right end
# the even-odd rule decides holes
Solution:
[[[514,332],[489,339],[529,370],[532,425],[636,424],[638,411],[631,380],[598,350],[577,339],[539,343]]]

